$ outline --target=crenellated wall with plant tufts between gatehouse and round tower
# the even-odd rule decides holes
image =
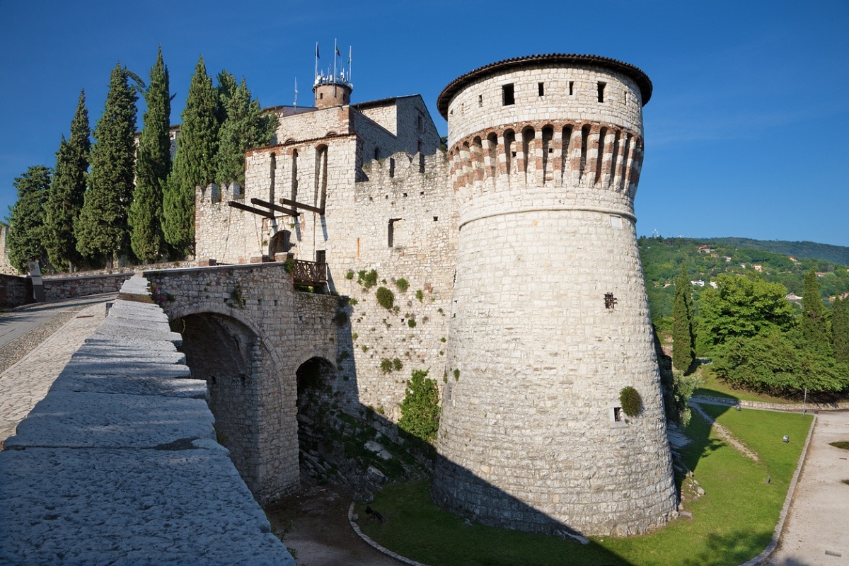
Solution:
[[[363,170],[368,182],[338,188],[327,210],[331,289],[356,302],[338,385],[351,404],[397,421],[411,370],[430,369],[440,385],[446,371],[458,216],[442,152],[395,154]],[[378,283],[365,289],[357,273],[372,269]],[[396,284],[401,278],[406,291]],[[395,295],[391,311],[375,298],[381,286]],[[380,361],[395,358],[402,369],[384,373]]]

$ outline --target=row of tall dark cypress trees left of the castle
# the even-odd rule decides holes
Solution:
[[[139,93],[146,109],[137,145]],[[152,262],[193,253],[195,188],[244,186],[245,151],[271,143],[278,120],[261,111],[244,77],[222,70],[214,86],[201,56],[172,162],[172,98],[161,48],[149,85],[115,65],[93,131],[81,92],[53,169],[33,165],[14,179],[18,199],[9,207],[6,244],[19,272],[28,261],[73,272],[111,267],[119,258]]]

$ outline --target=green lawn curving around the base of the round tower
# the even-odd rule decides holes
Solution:
[[[389,485],[376,494],[372,507],[386,518],[384,524],[375,523],[364,506],[357,505],[360,526],[382,546],[431,566],[737,565],[769,543],[812,417],[704,408],[756,451],[761,462],[739,454],[694,416],[687,428],[693,443],[682,456],[706,495],[688,504],[692,519],[679,518],[655,533],[624,539],[593,537],[583,546],[465,524],[463,518],[436,507],[424,481]],[[790,436],[789,444],[782,442],[784,434]]]

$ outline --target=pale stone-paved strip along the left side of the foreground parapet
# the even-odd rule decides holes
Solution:
[[[103,295],[102,302],[76,312],[58,332],[35,350],[0,373],[0,446],[14,434],[15,427],[47,395],[56,376],[70,356],[94,332],[106,316],[106,302],[115,295]]]

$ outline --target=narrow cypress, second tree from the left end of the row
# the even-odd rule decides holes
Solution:
[[[70,138],[65,136],[56,152],[56,169],[50,183],[45,210],[44,247],[50,263],[59,271],[70,271],[82,262],[76,250],[74,221],[80,215],[86,192],[88,153],[91,149],[86,92],[80,92],[74,119],[70,122]]]

